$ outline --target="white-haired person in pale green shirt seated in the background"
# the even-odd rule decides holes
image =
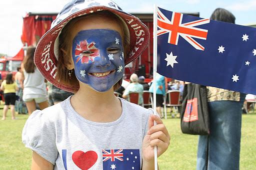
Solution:
[[[130,75],[130,82],[131,83],[124,90],[122,98],[127,99],[129,97],[129,93],[138,93],[138,105],[142,105],[143,86],[138,83],[138,76],[135,73]]]

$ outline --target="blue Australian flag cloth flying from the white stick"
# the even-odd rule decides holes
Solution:
[[[256,94],[256,28],[157,11],[157,72]]]

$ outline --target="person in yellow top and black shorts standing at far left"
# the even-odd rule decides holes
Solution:
[[[12,73],[6,75],[6,80],[1,84],[0,89],[3,91],[3,98],[5,101],[2,113],[2,120],[6,119],[6,113],[10,105],[11,119],[15,120],[15,100],[16,100],[16,90],[18,90],[17,84],[12,79]]]

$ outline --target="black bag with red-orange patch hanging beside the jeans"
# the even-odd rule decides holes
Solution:
[[[184,134],[209,135],[206,87],[186,84],[183,90],[180,127]]]

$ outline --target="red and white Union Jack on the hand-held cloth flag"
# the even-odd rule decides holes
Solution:
[[[195,26],[209,23],[209,19],[198,19],[182,23],[183,14],[172,12],[171,20],[169,20],[160,10],[157,11],[157,16],[157,26],[159,28],[157,36],[168,33],[168,43],[177,45],[180,35],[195,49],[204,50],[204,47],[192,37],[206,40],[208,30]]]

